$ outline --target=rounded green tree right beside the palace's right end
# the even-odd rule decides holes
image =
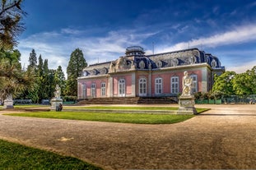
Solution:
[[[226,71],[225,73],[221,74],[221,76],[215,75],[212,92],[221,92],[224,95],[235,94],[233,90],[233,79],[235,75],[235,71]]]

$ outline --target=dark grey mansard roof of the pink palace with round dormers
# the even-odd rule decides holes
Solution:
[[[144,55],[143,48],[133,46],[127,48],[126,56],[121,56],[115,61],[102,62],[86,67],[83,70],[83,76],[104,76],[120,71],[158,70],[163,67],[180,67],[199,63],[207,63],[212,69],[225,69],[221,66],[218,57],[212,56],[211,53],[205,53],[198,48]]]

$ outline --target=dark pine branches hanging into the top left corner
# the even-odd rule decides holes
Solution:
[[[12,49],[16,37],[25,27],[21,23],[26,12],[21,9],[22,0],[1,0],[0,3],[0,48]]]

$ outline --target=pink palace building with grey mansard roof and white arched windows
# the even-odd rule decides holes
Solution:
[[[77,79],[78,99],[177,96],[184,71],[193,78],[193,93],[212,89],[214,75],[225,67],[211,53],[189,48],[145,55],[139,46],[126,48],[124,56],[84,68]]]

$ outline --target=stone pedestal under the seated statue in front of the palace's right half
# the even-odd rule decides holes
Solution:
[[[181,95],[179,97],[179,109],[177,114],[198,114],[194,108],[193,95]]]

